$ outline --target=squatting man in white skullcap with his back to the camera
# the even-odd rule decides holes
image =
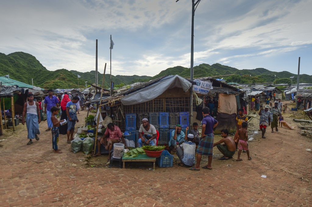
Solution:
[[[196,144],[193,143],[194,135],[188,134],[188,142],[180,144],[176,151],[181,163],[179,166],[193,166],[195,164]]]

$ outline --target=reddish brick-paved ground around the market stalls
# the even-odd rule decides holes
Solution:
[[[305,150],[312,142],[298,128],[269,130],[260,141],[257,134],[249,142],[251,161],[246,153],[242,162],[214,158],[213,170],[199,172],[176,164],[155,171],[92,168],[81,152],[71,152],[65,135],[63,153],[51,153],[46,122],[40,129],[31,145],[25,126],[0,143],[0,206],[312,206],[312,153]]]

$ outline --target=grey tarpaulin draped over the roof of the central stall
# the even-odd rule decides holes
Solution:
[[[182,88],[184,92],[187,92],[191,86],[192,83],[187,79],[178,75],[169,75],[151,85],[123,97],[121,102],[123,105],[144,103],[146,101],[153,100],[167,89],[179,87]]]

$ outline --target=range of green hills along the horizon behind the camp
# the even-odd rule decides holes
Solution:
[[[80,73],[76,70],[68,71],[66,69],[59,69],[56,71],[47,70],[34,56],[24,52],[15,52],[11,54],[0,53],[0,75],[10,74],[10,78],[32,84],[32,78],[35,86],[45,89],[56,88],[76,88],[78,87],[77,74],[80,75],[80,87],[91,83],[95,83],[95,71]],[[150,76],[125,76],[125,75],[112,75],[112,81],[116,85],[131,84],[134,82],[145,82],[154,78],[159,78],[164,75],[180,75],[185,78],[190,77],[190,68],[182,66],[175,66],[161,71],[154,77]],[[265,68],[256,68],[251,70],[239,70],[221,64],[200,64],[194,67],[194,78],[210,77],[236,74],[224,77],[227,82],[237,83],[252,83],[252,82],[274,82],[276,75],[276,83],[290,83],[289,77],[295,76],[293,83],[297,82],[297,75],[282,71],[273,72]],[[251,76],[250,76],[251,75]],[[102,85],[103,74],[98,72],[98,83]],[[300,75],[300,82],[312,83],[312,76],[307,74]],[[104,87],[110,86],[110,74],[105,74]]]

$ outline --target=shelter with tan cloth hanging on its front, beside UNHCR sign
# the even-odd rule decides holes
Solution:
[[[244,114],[248,114],[248,107],[245,107],[248,106],[247,100],[244,99],[245,92],[210,77],[200,78],[200,80],[210,80],[212,82],[213,89],[205,96],[204,104],[209,107],[214,103],[215,107],[217,106],[218,114],[216,119],[219,124],[214,130],[215,133],[220,134],[222,129],[234,132],[236,130],[237,109],[243,108]]]

